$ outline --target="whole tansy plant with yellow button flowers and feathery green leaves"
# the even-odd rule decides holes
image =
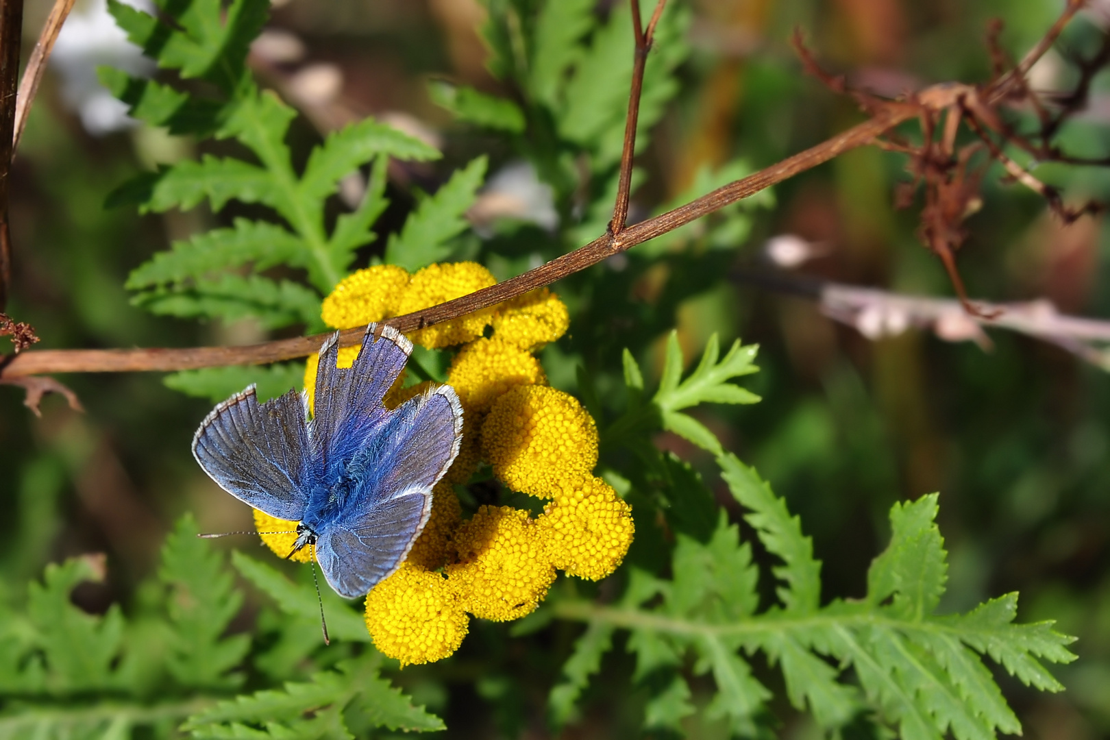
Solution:
[[[102,80],[134,118],[188,134],[201,150],[123,185],[113,202],[151,212],[206,203],[234,214],[135,267],[127,283],[133,303],[265,331],[345,330],[467,295],[604,232],[633,53],[627,8],[616,3],[603,18],[596,4],[487,0],[490,68],[514,94],[432,84],[460,132],[482,129],[482,141],[497,139],[500,159],[523,160],[557,216],[537,225],[514,211],[484,223],[480,236],[465,216],[481,211],[485,156],[454,171],[437,165],[438,185],[424,194],[405,179],[391,185],[390,173],[442,153],[385,123],[359,121],[294,151],[297,112],[246,65],[265,0],[159,0],[151,13],[111,1],[161,72],[147,80],[102,70]],[[644,133],[678,92],[689,16],[676,1],[658,21]],[[743,162],[703,170],[690,191],[745,171]],[[334,197],[344,178],[364,186],[353,207]],[[387,193],[407,211],[389,234],[379,225]],[[696,310],[692,296],[727,300],[727,266],[770,202],[765,193],[555,292],[534,290],[408,335],[418,349],[386,403],[452,385],[464,409],[462,452],[407,559],[355,605],[362,615],[323,594],[331,647],[320,639],[309,568],[281,562],[294,535],[272,534],[295,523],[255,513],[280,557],[243,548],[229,568],[186,516],[127,609],[73,606],[74,587],[104,575],[88,558],[49,567],[21,610],[3,607],[0,738],[441,730],[434,712],[451,681],[473,683],[501,729],[517,734],[535,723],[525,708],[536,697],[546,697],[535,710],[554,729],[575,722],[603,669],[616,686],[635,686],[630,721],[657,733],[716,727],[714,737],[766,736],[784,711],[838,737],[1020,731],[996,676],[1060,690],[1042,662],[1070,661],[1071,638],[1050,622],[1013,624],[1016,595],[959,614],[941,608],[937,496],[895,504],[866,592],[838,596],[824,590],[803,523],[718,436],[712,407],[759,401],[736,384],[756,372],[756,347],[737,341],[722,354],[714,331],[733,327],[719,321],[673,327]],[[704,347],[689,372],[684,344]],[[342,349],[341,366],[356,353]],[[303,387],[311,408],[317,365],[313,356],[165,382],[211,399],[249,383],[263,397]],[[304,548],[292,559],[311,557]],[[258,591],[251,610],[236,574]],[[616,635],[626,636],[634,666],[603,666]],[[396,670],[413,663],[431,665]]]

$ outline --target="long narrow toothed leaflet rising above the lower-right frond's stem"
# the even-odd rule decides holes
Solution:
[[[801,534],[801,521],[791,517],[786,501],[735,455],[723,455],[717,464],[729,491],[748,509],[744,518],[756,529],[759,541],[784,562],[774,574],[786,584],[776,589],[786,610],[801,615],[816,611],[821,597],[821,564],[814,559],[813,540]]]

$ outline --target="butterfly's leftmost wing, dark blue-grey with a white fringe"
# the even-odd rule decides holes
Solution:
[[[235,498],[300,521],[317,479],[305,403],[295,391],[259,405],[248,386],[218,405],[193,436],[193,457]]]

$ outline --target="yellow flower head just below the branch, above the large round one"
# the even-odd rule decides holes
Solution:
[[[466,414],[485,415],[494,399],[521,385],[547,385],[539,361],[503,339],[480,338],[455,355],[447,383]]]

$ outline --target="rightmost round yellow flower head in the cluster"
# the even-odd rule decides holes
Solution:
[[[601,478],[567,481],[538,519],[552,565],[598,580],[616,570],[632,545],[632,507]]]

